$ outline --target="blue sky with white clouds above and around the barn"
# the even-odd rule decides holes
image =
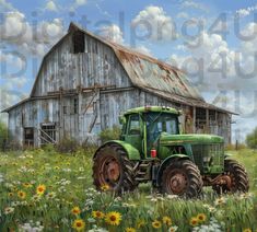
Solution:
[[[0,0],[0,109],[30,95],[73,21],[185,70],[207,102],[240,114],[233,142],[257,126],[256,1]]]

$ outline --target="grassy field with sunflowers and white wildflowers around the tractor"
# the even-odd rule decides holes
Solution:
[[[198,200],[162,196],[151,185],[122,197],[97,193],[92,153],[0,153],[0,231],[257,231],[257,152],[231,152],[247,169],[249,194],[206,189]]]

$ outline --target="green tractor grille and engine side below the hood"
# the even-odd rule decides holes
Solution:
[[[212,165],[224,165],[224,144],[223,143],[212,143],[212,144],[192,144],[192,154],[195,163],[198,165],[200,171],[203,166],[209,166],[208,162],[205,163],[205,158],[211,158]]]

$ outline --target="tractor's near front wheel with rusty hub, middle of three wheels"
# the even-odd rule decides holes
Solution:
[[[178,160],[165,167],[161,182],[162,193],[183,197],[197,197],[202,190],[199,169],[189,160]]]

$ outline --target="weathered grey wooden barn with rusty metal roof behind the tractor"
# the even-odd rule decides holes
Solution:
[[[144,105],[183,109],[186,132],[231,142],[232,113],[205,102],[183,71],[73,23],[44,57],[30,97],[4,112],[12,139],[38,147],[65,137],[97,141],[120,113]]]

